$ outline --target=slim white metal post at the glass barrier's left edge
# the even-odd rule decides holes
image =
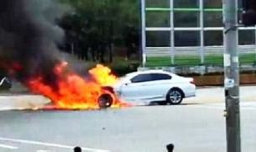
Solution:
[[[142,66],[145,67],[146,64],[146,10],[145,10],[145,0],[140,1],[140,10],[142,18]]]

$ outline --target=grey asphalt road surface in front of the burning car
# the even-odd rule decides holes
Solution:
[[[5,111],[0,151],[225,151],[223,103],[95,111]],[[256,102],[241,103],[242,150],[255,151]]]

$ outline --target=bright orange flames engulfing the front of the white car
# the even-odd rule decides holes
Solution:
[[[49,98],[56,108],[64,109],[99,109],[98,98],[108,93],[102,86],[114,85],[118,78],[111,74],[111,70],[103,65],[96,65],[89,71],[92,78],[82,78],[74,72],[67,70],[68,63],[62,62],[53,71],[58,78],[57,87],[52,88],[45,85],[41,77],[33,78],[26,85],[36,94]],[[125,106],[116,95],[111,94],[114,99],[112,107]]]

